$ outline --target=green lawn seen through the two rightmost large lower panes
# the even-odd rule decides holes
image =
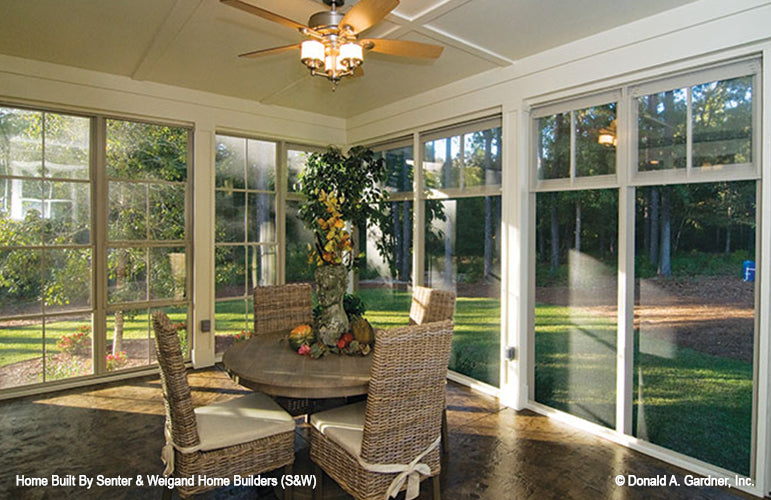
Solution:
[[[615,427],[616,326],[536,307],[536,401]],[[749,474],[752,365],[636,334],[634,434]]]

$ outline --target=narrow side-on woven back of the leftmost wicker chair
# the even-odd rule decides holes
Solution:
[[[163,312],[153,313],[153,329],[155,352],[161,367],[166,421],[167,424],[171,422],[171,436],[178,446],[197,446],[200,443],[198,428],[177,329]]]

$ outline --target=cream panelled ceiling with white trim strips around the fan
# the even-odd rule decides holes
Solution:
[[[306,24],[321,0],[246,0]],[[343,11],[357,0],[347,0]],[[402,0],[366,32],[444,46],[365,55],[364,77],[311,77],[285,26],[218,0],[0,0],[0,53],[348,118],[694,0]]]

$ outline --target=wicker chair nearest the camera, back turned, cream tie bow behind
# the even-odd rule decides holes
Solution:
[[[382,500],[405,486],[411,500],[420,476],[433,478],[439,498],[438,445],[452,331],[452,321],[378,331],[367,400],[311,416],[317,470],[357,500]]]

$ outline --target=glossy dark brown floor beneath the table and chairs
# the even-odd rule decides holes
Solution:
[[[247,392],[217,368],[191,372],[189,380],[196,406]],[[544,416],[503,408],[495,398],[455,384],[448,385],[447,398],[445,500],[753,498],[737,490],[686,487],[686,471]],[[0,498],[160,498],[161,488],[146,485],[23,487],[16,478],[161,474],[163,420],[158,377],[0,401]],[[308,429],[302,418],[297,422],[295,471],[309,474]],[[619,487],[613,480],[617,474],[674,474],[681,486]],[[324,484],[327,498],[350,498],[329,478]],[[295,498],[310,498],[310,493],[299,488]],[[424,483],[420,498],[429,499],[430,493]],[[198,498],[275,496],[269,489],[225,487]]]

